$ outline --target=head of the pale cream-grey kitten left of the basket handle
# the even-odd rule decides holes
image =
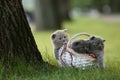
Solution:
[[[62,45],[67,44],[69,37],[66,30],[57,30],[52,34],[51,39],[56,47],[61,47]]]

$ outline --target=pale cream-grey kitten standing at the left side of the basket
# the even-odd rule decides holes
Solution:
[[[66,45],[69,36],[67,34],[67,30],[57,30],[51,35],[51,40],[53,42],[54,46],[54,55],[55,58],[58,60],[59,59],[59,49],[63,46]]]

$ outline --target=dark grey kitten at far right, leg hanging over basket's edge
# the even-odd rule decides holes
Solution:
[[[91,37],[88,40],[89,43],[89,50],[88,53],[93,53],[96,55],[99,66],[101,68],[104,68],[104,42],[105,40],[102,40],[97,37]]]

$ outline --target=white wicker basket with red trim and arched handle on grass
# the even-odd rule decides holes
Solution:
[[[76,53],[71,49],[72,41],[81,35],[85,35],[87,37],[91,36],[87,33],[78,33],[68,41],[67,45],[63,45],[62,48],[59,50],[59,66],[85,69],[86,67],[97,65],[97,63],[95,63],[96,58],[83,53]]]

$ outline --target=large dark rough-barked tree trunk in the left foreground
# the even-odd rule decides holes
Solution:
[[[0,0],[0,60],[14,63],[42,63],[31,29],[25,17],[22,0]]]

